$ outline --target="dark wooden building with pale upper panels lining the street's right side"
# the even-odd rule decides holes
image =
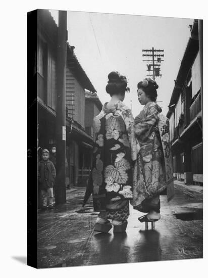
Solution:
[[[175,80],[167,117],[170,119],[174,176],[186,184],[203,182],[202,96],[198,21]]]

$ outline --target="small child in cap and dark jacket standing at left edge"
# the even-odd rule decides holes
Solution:
[[[53,186],[56,178],[56,169],[49,160],[49,151],[47,149],[42,150],[42,160],[38,162],[38,183],[41,191],[42,208],[47,208],[47,197],[48,197],[48,208],[54,207],[54,193]]]

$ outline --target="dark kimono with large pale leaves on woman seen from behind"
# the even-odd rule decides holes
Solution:
[[[131,110],[120,101],[110,110],[105,104],[93,121],[93,207],[94,211],[105,211],[108,219],[124,220],[129,215],[132,158],[137,156],[132,123]]]

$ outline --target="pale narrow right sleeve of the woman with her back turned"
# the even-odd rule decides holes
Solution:
[[[128,133],[129,144],[130,144],[130,151],[131,151],[131,159],[135,161],[137,159],[137,154],[140,150],[139,143],[135,137],[133,122],[134,118],[131,113],[131,110],[125,110],[123,113],[123,119],[126,125],[126,130]]]

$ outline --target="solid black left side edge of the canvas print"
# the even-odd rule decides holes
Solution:
[[[37,268],[37,10],[27,13],[27,265]]]

